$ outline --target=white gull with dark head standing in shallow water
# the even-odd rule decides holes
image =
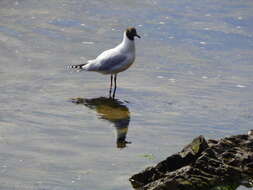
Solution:
[[[117,74],[128,69],[135,60],[134,38],[141,38],[134,27],[129,27],[124,31],[123,40],[116,47],[106,50],[95,59],[88,60],[84,64],[71,65],[69,68],[78,71],[95,71],[105,75],[111,75],[109,97],[111,98],[114,81],[113,99],[117,88]]]

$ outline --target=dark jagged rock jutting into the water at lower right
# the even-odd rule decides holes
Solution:
[[[207,190],[253,187],[253,136],[195,138],[177,154],[130,178],[136,189]],[[217,187],[219,186],[219,188]]]

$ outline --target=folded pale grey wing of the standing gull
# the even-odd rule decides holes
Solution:
[[[115,55],[107,59],[101,60],[99,71],[111,71],[115,67],[119,67],[120,64],[123,64],[127,60],[125,55]]]

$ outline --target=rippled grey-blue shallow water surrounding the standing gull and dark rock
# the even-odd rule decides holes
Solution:
[[[252,129],[252,10],[251,0],[0,1],[0,189],[131,189],[132,174],[195,136]],[[128,26],[142,38],[118,77],[131,144],[117,148],[114,108],[71,102],[106,97],[109,76],[65,67]]]

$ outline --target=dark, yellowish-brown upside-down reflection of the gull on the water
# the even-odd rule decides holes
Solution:
[[[128,125],[130,122],[130,112],[123,102],[106,97],[99,98],[73,98],[73,103],[83,104],[92,110],[96,110],[99,119],[111,122],[117,132],[117,147],[125,148],[126,144],[131,142],[126,141]]]

